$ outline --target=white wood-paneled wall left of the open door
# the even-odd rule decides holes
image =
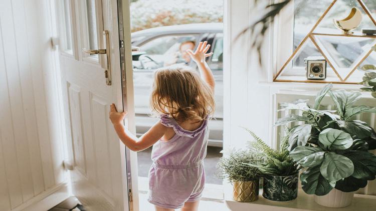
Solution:
[[[50,1],[0,1],[0,210],[64,186]]]

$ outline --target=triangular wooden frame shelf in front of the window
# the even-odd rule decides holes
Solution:
[[[330,57],[327,56],[328,52],[326,52],[325,47],[319,39],[317,39],[317,36],[337,36],[337,37],[355,37],[355,38],[370,38],[374,39],[371,43],[371,46],[376,44],[376,35],[363,35],[363,34],[351,34],[351,33],[342,33],[342,34],[325,34],[325,33],[315,33],[315,29],[318,27],[318,25],[321,23],[321,21],[324,19],[324,17],[328,14],[330,9],[335,5],[337,0],[333,0],[333,2],[329,5],[329,7],[325,10],[325,12],[322,14],[322,16],[317,20],[316,24],[313,26],[313,28],[309,31],[309,33],[306,35],[306,37],[302,40],[302,42],[298,45],[298,47],[294,50],[293,54],[289,57],[289,59],[286,61],[286,63],[281,67],[281,69],[276,73],[276,75],[273,78],[274,82],[310,82],[310,83],[340,83],[340,84],[356,84],[354,82],[347,82],[348,78],[354,73],[354,71],[362,64],[362,62],[372,53],[372,49],[369,49],[368,51],[363,52],[360,54],[358,59],[350,66],[350,72],[346,74],[345,77],[341,77],[341,75],[338,73],[336,68],[334,67],[334,62],[330,61]],[[365,12],[365,14],[369,17],[371,22],[376,27],[376,21],[372,17],[370,11],[365,6],[362,0],[357,0],[357,2],[360,4],[361,8]],[[319,53],[324,57],[327,64],[332,68],[333,72],[339,79],[339,81],[328,81],[328,80],[308,80],[305,78],[305,80],[296,80],[296,77],[292,77],[293,80],[286,80],[286,79],[280,79],[279,77],[283,73],[283,71],[286,69],[288,64],[295,58],[299,50],[302,48],[302,46],[305,44],[308,39],[314,44],[314,46],[317,48]]]

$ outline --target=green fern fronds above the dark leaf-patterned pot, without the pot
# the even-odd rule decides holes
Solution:
[[[257,167],[263,174],[275,176],[289,176],[296,174],[299,170],[298,165],[289,156],[288,140],[290,130],[285,128],[285,137],[282,139],[279,149],[273,149],[267,145],[260,137],[258,137],[250,129],[244,128],[254,138],[249,141],[249,148],[256,154],[264,157],[264,161],[258,165],[249,164],[252,167]]]

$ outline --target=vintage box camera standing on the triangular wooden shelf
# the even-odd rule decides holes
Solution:
[[[304,63],[307,64],[307,79],[326,79],[326,60],[323,57],[307,57],[304,59]]]

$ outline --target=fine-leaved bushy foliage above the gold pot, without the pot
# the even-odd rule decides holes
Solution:
[[[217,168],[221,170],[219,176],[229,179],[230,182],[251,181],[261,177],[260,170],[255,167],[261,162],[263,158],[248,149],[231,151],[219,160]]]

